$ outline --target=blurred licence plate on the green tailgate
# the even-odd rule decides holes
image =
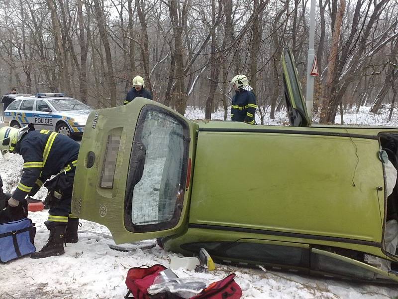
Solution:
[[[112,188],[115,175],[117,154],[119,152],[120,136],[108,136],[105,159],[101,173],[101,187]]]

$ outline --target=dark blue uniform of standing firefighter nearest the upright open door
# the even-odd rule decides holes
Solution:
[[[254,124],[256,109],[257,104],[254,93],[239,89],[232,98],[231,120]]]

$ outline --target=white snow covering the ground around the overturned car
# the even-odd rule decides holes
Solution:
[[[367,108],[369,109],[369,108]],[[365,110],[365,109],[364,109]],[[385,113],[373,115],[361,113],[346,115],[345,119],[359,121],[369,125],[387,124]],[[198,111],[189,111],[187,116],[192,119],[203,118]],[[218,114],[222,118],[222,113]],[[338,117],[339,118],[339,117]],[[281,124],[286,120],[283,113],[277,115]],[[374,121],[373,121],[374,120]],[[395,117],[397,122],[397,117]],[[337,118],[336,118],[337,121]],[[4,189],[11,191],[17,184],[22,159],[18,155],[6,154],[1,157],[0,174]],[[40,190],[36,198],[43,199],[45,190]],[[36,223],[37,234],[35,245],[39,250],[47,241],[48,231],[43,222],[47,219],[47,211],[29,212],[29,217]],[[21,258],[6,264],[0,264],[0,299],[108,299],[123,298],[126,293],[125,277],[130,267],[141,265],[163,264],[170,266],[174,253],[165,252],[158,246],[151,249],[140,249],[148,246],[154,240],[136,244],[136,250],[120,252],[112,250],[114,244],[106,235],[109,231],[96,223],[82,220],[79,242],[68,244],[66,253],[59,257],[33,260]],[[133,247],[134,248],[134,247]],[[205,282],[213,282],[226,277],[230,273],[237,275],[236,282],[243,290],[243,298],[398,298],[398,290],[393,287],[378,285],[355,284],[335,280],[319,280],[287,273],[263,271],[261,269],[234,268],[217,265],[214,272],[198,274],[193,271],[177,270],[179,277],[195,277]]]

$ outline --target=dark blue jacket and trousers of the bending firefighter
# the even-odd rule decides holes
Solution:
[[[68,217],[73,217],[70,215],[72,187],[79,147],[74,140],[56,132],[28,132],[14,149],[22,155],[24,163],[22,177],[12,197],[23,201],[26,195],[36,194],[48,178],[64,170],[70,188],[62,194],[59,203],[50,205],[48,221],[68,222]]]

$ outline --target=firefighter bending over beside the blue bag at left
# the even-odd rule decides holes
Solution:
[[[71,214],[72,187],[79,154],[79,144],[67,136],[48,130],[35,131],[32,125],[16,129],[0,129],[0,150],[18,153],[23,157],[22,177],[8,200],[10,207],[23,204],[27,195],[33,196],[44,185],[49,192],[46,204],[50,207],[48,242],[31,255],[33,259],[63,254],[63,243],[78,242],[79,218]]]

